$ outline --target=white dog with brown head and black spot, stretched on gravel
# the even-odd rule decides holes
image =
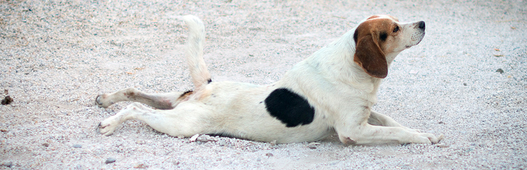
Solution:
[[[182,19],[189,28],[186,59],[194,90],[151,94],[127,88],[97,95],[95,103],[102,108],[134,101],[100,122],[99,133],[111,135],[124,121],[141,120],[171,136],[214,134],[276,143],[317,141],[335,133],[340,142],[355,145],[435,144],[443,139],[371,109],[388,66],[423,39],[423,21],[370,16],[279,81],[260,86],[212,81],[203,60],[204,25],[196,16]]]

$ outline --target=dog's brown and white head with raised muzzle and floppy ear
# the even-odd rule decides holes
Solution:
[[[385,78],[388,75],[387,61],[393,61],[399,52],[419,44],[424,36],[423,21],[399,23],[393,16],[371,16],[355,29],[353,61],[368,75]]]

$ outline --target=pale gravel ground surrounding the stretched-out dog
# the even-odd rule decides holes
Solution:
[[[425,20],[389,69],[375,110],[444,134],[438,145],[346,146],[335,136],[273,145],[196,142],[123,123],[97,94],[192,89],[183,60],[193,14],[214,81],[267,84],[373,14]],[[527,169],[527,2],[0,0],[0,169]],[[0,94],[4,99],[5,94]]]

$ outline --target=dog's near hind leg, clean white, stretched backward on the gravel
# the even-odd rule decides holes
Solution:
[[[143,121],[154,130],[171,136],[214,133],[205,131],[211,122],[208,116],[211,116],[210,111],[197,103],[186,102],[172,110],[155,110],[135,102],[99,123],[99,133],[111,135],[117,126],[127,120]]]

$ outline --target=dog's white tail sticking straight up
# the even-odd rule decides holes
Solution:
[[[205,41],[205,26],[201,20],[193,15],[183,16],[183,20],[189,27],[187,39],[186,58],[190,69],[190,77],[194,83],[195,90],[207,86],[212,80],[207,65],[203,60],[203,41]]]

